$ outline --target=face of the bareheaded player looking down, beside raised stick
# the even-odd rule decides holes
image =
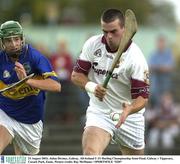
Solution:
[[[101,28],[110,49],[117,50],[124,32],[124,27],[121,27],[119,19],[115,19],[110,23],[101,20]]]

